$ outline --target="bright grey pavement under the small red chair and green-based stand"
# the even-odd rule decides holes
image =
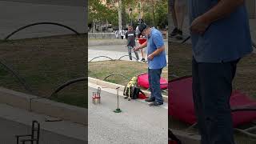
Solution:
[[[89,85],[91,86],[91,85]],[[96,87],[96,86],[94,86]],[[96,89],[89,88],[88,95]],[[106,90],[106,88],[102,88]],[[115,90],[112,90],[112,92]],[[122,113],[115,114],[116,94],[102,92],[102,103],[89,100],[88,142],[90,144],[166,144],[168,115],[164,107],[150,107],[144,102],[119,97]]]

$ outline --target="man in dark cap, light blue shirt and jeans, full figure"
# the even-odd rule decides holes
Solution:
[[[163,98],[160,89],[160,78],[162,68],[166,66],[166,52],[162,33],[154,27],[150,28],[142,23],[137,26],[136,34],[142,34],[147,38],[147,41],[141,46],[134,48],[134,50],[139,50],[147,46],[148,78],[151,95],[150,98],[146,99],[146,102],[151,102],[150,106],[162,105]]]

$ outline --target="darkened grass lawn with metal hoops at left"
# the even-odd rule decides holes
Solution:
[[[0,42],[0,60],[26,80],[33,94],[49,97],[62,83],[85,77],[86,35],[62,35]],[[28,93],[16,78],[0,66],[0,86]],[[87,82],[66,87],[53,98],[75,106],[87,106]]]

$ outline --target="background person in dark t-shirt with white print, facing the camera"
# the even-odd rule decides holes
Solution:
[[[128,54],[129,54],[130,60],[133,59],[131,56],[131,50],[134,49],[135,38],[136,38],[136,34],[135,34],[135,31],[133,30],[133,26],[128,26],[128,31],[126,32],[126,39],[127,39]],[[137,60],[139,60],[138,52],[134,50],[134,54],[136,55]]]

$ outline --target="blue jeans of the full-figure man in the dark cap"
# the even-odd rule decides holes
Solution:
[[[150,98],[154,99],[155,102],[163,102],[162,93],[160,89],[160,78],[162,69],[148,69],[149,83],[150,83]]]

